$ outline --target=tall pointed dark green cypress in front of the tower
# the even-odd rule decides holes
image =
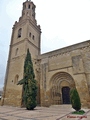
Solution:
[[[37,105],[37,83],[29,49],[27,49],[27,55],[24,62],[24,76],[23,79],[18,82],[18,85],[23,85],[23,102],[26,108],[28,110],[33,110]]]

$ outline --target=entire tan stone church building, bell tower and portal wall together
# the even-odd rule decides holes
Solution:
[[[12,30],[2,105],[22,106],[24,60],[29,48],[41,106],[70,104],[69,91],[77,88],[82,106],[90,104],[90,41],[40,54],[41,29],[35,5],[26,0],[22,16]]]

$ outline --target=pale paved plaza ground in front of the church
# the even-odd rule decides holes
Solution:
[[[90,109],[83,109],[84,115],[71,114],[71,105],[53,105],[36,107],[35,110],[26,108],[0,106],[0,120],[90,120]]]

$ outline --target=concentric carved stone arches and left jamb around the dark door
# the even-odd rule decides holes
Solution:
[[[52,76],[50,80],[51,104],[62,103],[61,89],[64,86],[75,87],[72,76],[66,72],[60,72]]]

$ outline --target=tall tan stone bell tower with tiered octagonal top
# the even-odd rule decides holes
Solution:
[[[35,19],[35,8],[31,0],[26,0],[23,3],[22,15],[12,28],[2,105],[22,105],[22,86],[17,85],[17,82],[23,78],[27,49],[30,50],[33,64],[40,54],[41,29]]]

